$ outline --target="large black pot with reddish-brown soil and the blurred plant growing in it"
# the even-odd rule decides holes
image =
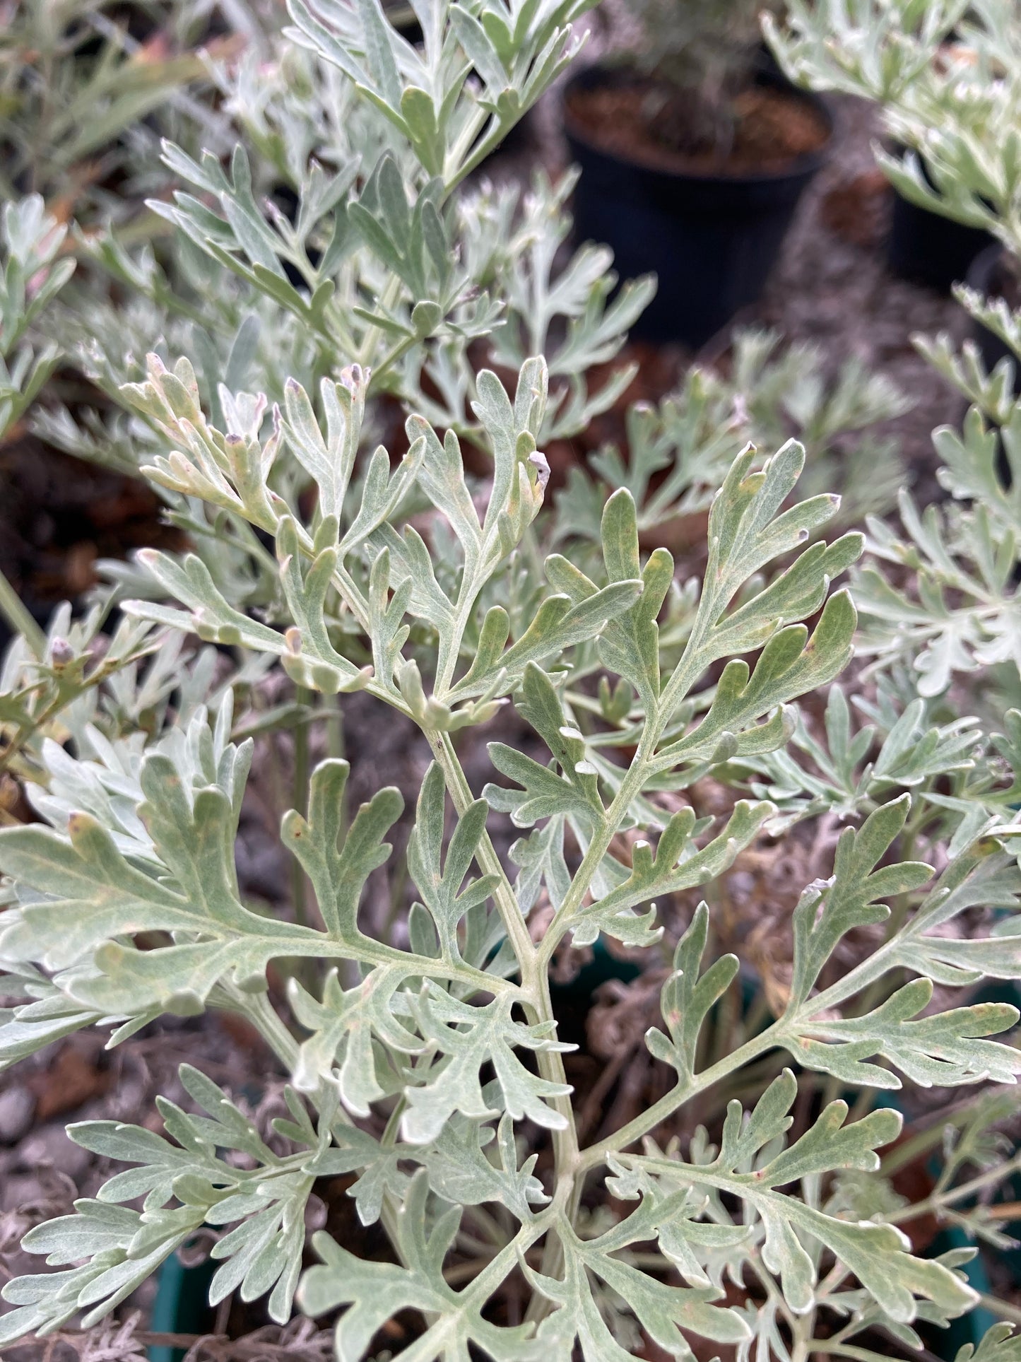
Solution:
[[[832,125],[764,57],[756,0],[632,8],[640,45],[565,94],[577,234],[656,272],[638,335],[698,347],[760,297]]]

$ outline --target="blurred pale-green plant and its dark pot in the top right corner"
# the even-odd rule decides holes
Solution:
[[[879,105],[893,148],[878,159],[901,204],[894,268],[942,286],[964,279],[954,293],[986,368],[1013,358],[1013,309],[1021,304],[1017,10],[960,0],[847,10],[791,0],[785,29],[766,20],[766,33],[792,80]],[[918,236],[938,219],[949,233],[927,236],[926,226]]]

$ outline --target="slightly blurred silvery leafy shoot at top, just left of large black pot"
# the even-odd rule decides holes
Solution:
[[[417,14],[417,48],[373,7],[298,3],[290,34],[309,49],[304,61],[287,53],[257,79],[245,64],[221,71],[234,118],[268,165],[238,147],[222,170],[166,146],[188,188],[152,207],[297,317],[320,365],[358,361],[411,402],[425,384],[436,405],[438,390],[437,418],[464,432],[475,395],[467,349],[491,336],[497,362],[547,355],[555,400],[545,434],[574,433],[629,381],[623,370],[589,392],[587,370],[614,358],[652,281],[610,301],[604,248],[554,262],[569,180],[538,183],[521,214],[516,193],[485,184],[452,195],[574,54],[570,23],[584,8],[430,7]],[[298,196],[293,223],[279,208],[267,221],[267,170]]]

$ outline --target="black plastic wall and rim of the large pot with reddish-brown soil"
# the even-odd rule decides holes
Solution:
[[[833,120],[815,95],[762,74],[761,84],[811,106],[826,142],[775,173],[667,170],[603,150],[572,114],[572,94],[634,79],[625,68],[589,67],[565,87],[564,127],[581,168],[574,234],[611,247],[621,279],[658,275],[656,296],[633,335],[698,349],[761,297],[798,200],[826,159]]]

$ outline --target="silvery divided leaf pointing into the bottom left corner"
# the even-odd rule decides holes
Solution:
[[[78,1201],[75,1215],[30,1231],[26,1248],[48,1254],[49,1265],[88,1261],[20,1278],[8,1294],[19,1306],[5,1317],[8,1335],[12,1328],[26,1333],[52,1327],[86,1303],[93,1306],[86,1323],[102,1318],[199,1226],[229,1224],[242,1216],[244,1233],[234,1231],[215,1246],[221,1267],[210,1298],[223,1299],[236,1288],[245,1299],[270,1291],[274,1316],[289,1316],[301,1271],[305,1203],[317,1160],[329,1144],[328,1122],[316,1129],[289,1094],[293,1120],[278,1121],[276,1129],[298,1150],[280,1156],[215,1083],[188,1065],[180,1076],[189,1099],[207,1115],[188,1114],[161,1098],[170,1139],[116,1121],[84,1121],[68,1129],[83,1148],[137,1167],[106,1182],[97,1200]],[[237,1154],[253,1166],[229,1162],[227,1155]],[[136,1199],[144,1199],[140,1211],[124,1204]]]

